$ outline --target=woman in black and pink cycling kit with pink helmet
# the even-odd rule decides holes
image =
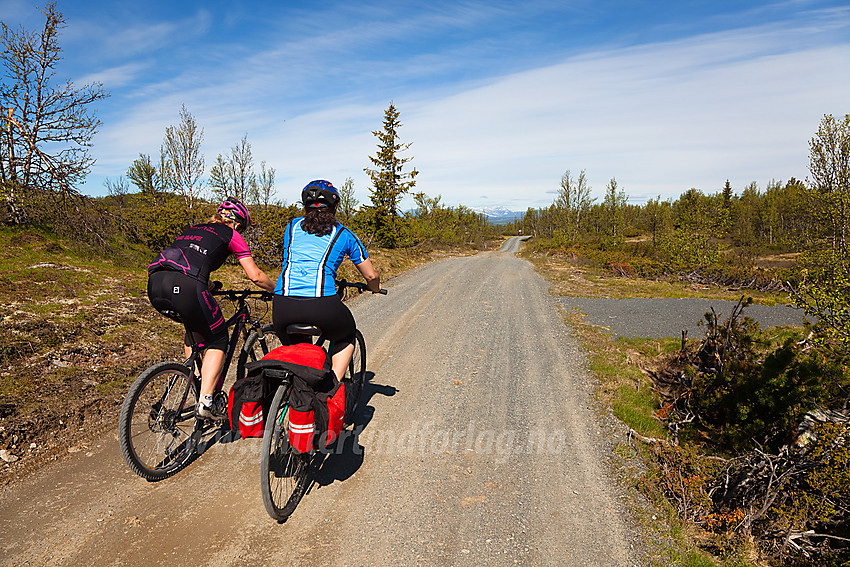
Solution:
[[[228,197],[208,222],[187,228],[148,266],[151,305],[167,317],[176,315],[192,331],[193,336],[187,333],[184,340],[186,356],[191,354],[193,340],[206,349],[198,404],[198,413],[203,417],[227,417],[226,399],[224,407],[221,402],[213,405],[213,393],[220,388],[228,335],[221,308],[209,290],[210,273],[233,254],[251,281],[266,291],[274,291],[274,283],[257,267],[240,234],[250,222],[245,205]]]

